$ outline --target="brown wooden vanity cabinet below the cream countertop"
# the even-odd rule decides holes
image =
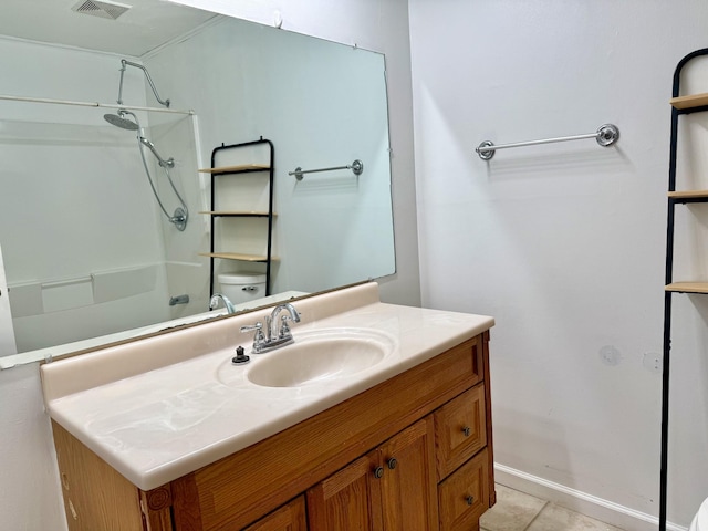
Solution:
[[[496,501],[488,341],[149,491],[53,423],[70,531],[476,531]]]

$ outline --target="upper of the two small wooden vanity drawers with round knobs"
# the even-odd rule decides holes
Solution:
[[[485,384],[478,384],[435,412],[438,481],[487,445]]]

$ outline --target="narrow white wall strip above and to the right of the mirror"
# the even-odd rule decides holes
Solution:
[[[176,0],[173,0],[176,1]],[[404,0],[346,0],[334,7],[327,0],[232,2],[178,0],[176,3],[210,9],[268,25],[344,44],[356,44],[386,55],[388,117],[394,202],[396,273],[382,280],[387,302],[418,305],[418,244],[416,235],[413,163],[413,115],[408,44],[408,7]]]

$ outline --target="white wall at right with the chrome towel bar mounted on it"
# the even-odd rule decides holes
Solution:
[[[658,513],[660,376],[644,356],[662,352],[668,98],[676,63],[706,45],[708,6],[409,7],[424,305],[497,319],[497,461],[615,503],[618,522],[644,529]],[[518,148],[490,163],[473,152],[606,122],[616,147]],[[676,309],[669,520],[683,525],[708,496],[699,304]]]

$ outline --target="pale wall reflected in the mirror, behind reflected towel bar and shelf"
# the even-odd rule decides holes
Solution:
[[[183,63],[189,67],[175,69]],[[320,291],[394,271],[383,55],[222,19],[159,50],[145,64],[162,85],[174,87],[173,105],[196,111],[202,160],[222,144],[261,136],[273,143],[273,293]],[[221,149],[216,164],[268,162],[267,156],[252,157],[250,150]],[[354,159],[364,162],[360,177],[341,170],[298,181],[288,175],[299,166],[314,169]],[[207,187],[215,180],[222,208],[268,210],[267,174],[205,179]],[[216,225],[222,227],[217,237],[244,232],[228,244],[217,242],[217,249],[266,254],[264,219],[221,218]],[[192,249],[201,243],[200,251],[208,252],[204,240]],[[253,271],[262,266],[264,271],[263,264],[230,260],[215,266],[217,274],[239,267]]]

